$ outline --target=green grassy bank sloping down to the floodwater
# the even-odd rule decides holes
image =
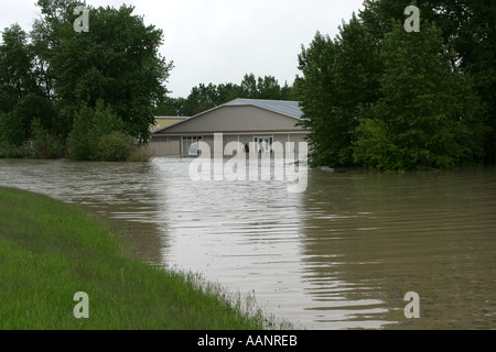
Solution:
[[[46,196],[0,187],[0,329],[257,330],[262,314],[193,275],[128,255],[107,226]],[[76,319],[74,295],[88,294]]]

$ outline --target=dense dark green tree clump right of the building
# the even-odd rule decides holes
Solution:
[[[335,38],[302,47],[296,79],[315,165],[445,168],[496,155],[496,8],[366,0]]]

